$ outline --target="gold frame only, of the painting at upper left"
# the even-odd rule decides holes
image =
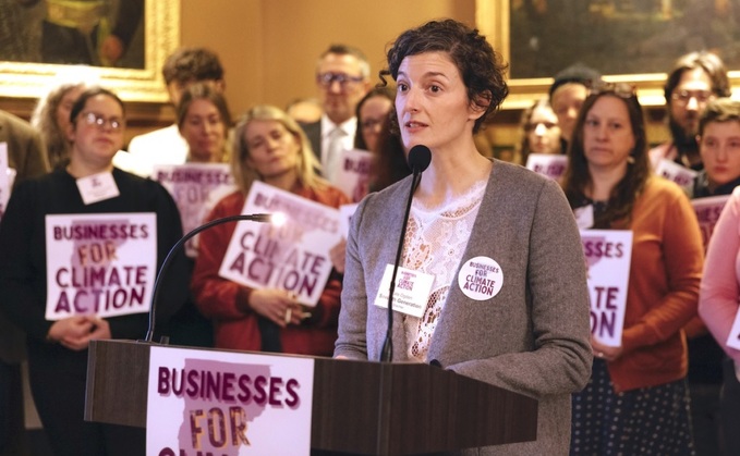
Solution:
[[[85,71],[124,101],[161,103],[168,100],[161,66],[180,42],[180,0],[146,0],[144,14],[143,70],[89,66]],[[38,98],[65,66],[0,61],[0,97]]]

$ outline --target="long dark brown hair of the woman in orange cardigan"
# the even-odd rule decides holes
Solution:
[[[575,208],[583,206],[583,202],[587,200],[585,193],[592,185],[583,145],[583,126],[586,116],[599,98],[615,97],[624,103],[634,135],[634,148],[630,152],[624,177],[611,189],[606,210],[601,214],[594,214],[593,227],[595,229],[624,229],[629,226],[634,201],[642,194],[647,180],[652,175],[647,159],[647,136],[642,107],[632,88],[626,90],[623,86],[623,84],[616,86],[608,84],[604,87],[596,87],[589,95],[575,121],[573,138],[568,148],[568,168],[562,176],[562,188],[570,206]]]

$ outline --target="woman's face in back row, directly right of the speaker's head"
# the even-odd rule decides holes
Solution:
[[[547,98],[539,99],[522,113],[522,140],[519,160],[526,164],[530,153],[560,153],[558,116]]]

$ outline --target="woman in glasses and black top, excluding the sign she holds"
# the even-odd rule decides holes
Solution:
[[[83,415],[90,341],[144,338],[148,328],[148,303],[141,312],[117,317],[100,318],[78,310],[72,311],[72,317],[54,321],[45,317],[47,274],[54,273],[47,272],[47,250],[58,242],[53,238],[47,241],[46,215],[153,212],[156,214],[156,249],[141,251],[141,256],[154,256],[158,266],[182,235],[178,209],[163,187],[113,168],[112,158],[123,144],[124,127],[123,103],[113,93],[104,88],[83,91],[70,111],[66,132],[71,139],[69,163],[19,185],[0,224],[0,303],[27,334],[32,393],[54,455],[145,453],[145,430],[86,422]],[[94,190],[86,184],[90,184]],[[80,248],[92,248],[86,244],[92,241],[74,242],[82,243]],[[125,241],[118,238],[117,242]],[[92,257],[85,258],[75,256],[70,259],[70,268],[78,274],[76,285],[70,282],[72,279],[57,273],[52,280],[62,287],[65,286],[62,282],[70,282],[70,294],[72,289],[93,293],[92,288],[82,284],[84,279],[81,275],[87,271],[83,267],[90,264],[89,261],[101,268],[107,263],[100,258],[97,262],[90,260]],[[157,308],[160,326],[186,299],[187,266],[184,256],[181,258],[172,263],[163,282],[162,294],[167,299]],[[112,287],[113,283],[111,279],[111,287],[106,288],[106,284],[101,284],[101,289],[118,289]],[[78,308],[76,299],[74,309]],[[121,374],[125,372],[121,371]]]

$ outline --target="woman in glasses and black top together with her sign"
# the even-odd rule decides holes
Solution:
[[[182,235],[165,188],[112,167],[124,126],[113,93],[83,91],[69,164],[19,185],[0,224],[0,303],[27,334],[32,393],[56,455],[144,454],[144,429],[83,420],[89,342],[145,337],[157,266]],[[186,263],[169,271],[160,323],[186,298]]]

